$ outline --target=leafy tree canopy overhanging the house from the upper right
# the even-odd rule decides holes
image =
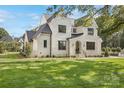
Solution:
[[[82,15],[89,16],[89,20],[94,18],[98,24],[100,34],[111,35],[113,32],[124,28],[124,6],[121,5],[104,5],[101,7],[96,7],[95,5],[53,5],[47,9],[53,14],[64,16],[73,15],[75,10],[81,12]],[[77,23],[81,24],[81,19]]]

